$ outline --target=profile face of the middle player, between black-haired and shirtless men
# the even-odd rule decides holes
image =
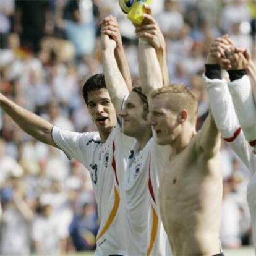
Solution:
[[[150,121],[145,117],[144,105],[136,92],[131,92],[119,112],[122,117],[122,131],[130,137],[138,138],[150,127]]]

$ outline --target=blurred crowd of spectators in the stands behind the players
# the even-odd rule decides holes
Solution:
[[[171,83],[197,97],[198,128],[208,113],[202,80],[211,40],[228,33],[256,61],[255,0],[153,0],[166,39]],[[119,22],[134,85],[134,27],[118,0],[1,0],[0,90],[66,130],[95,130],[81,89],[102,72],[100,20]],[[224,75],[224,74],[223,74]],[[95,249],[98,220],[90,174],[56,148],[23,133],[0,109],[0,254],[63,254]],[[223,142],[223,247],[252,243],[246,200],[249,173]]]

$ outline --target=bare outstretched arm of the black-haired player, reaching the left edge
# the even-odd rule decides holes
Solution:
[[[57,147],[51,137],[53,125],[48,121],[15,104],[1,93],[0,107],[24,132],[43,143]]]

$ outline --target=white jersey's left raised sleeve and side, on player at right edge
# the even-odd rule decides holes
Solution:
[[[245,139],[243,130],[240,127],[233,105],[233,98],[231,98],[226,81],[220,79],[211,80],[206,77],[205,80],[208,83],[211,112],[215,119],[216,126],[220,130],[223,139],[228,142],[228,145],[244,162],[252,175],[247,186],[247,201],[252,218],[254,249],[256,253],[256,155],[253,148],[249,145],[249,142]],[[236,83],[239,83],[239,80],[236,80]],[[242,80],[240,80],[240,82],[241,81]],[[231,85],[232,83],[233,82],[231,82]],[[231,85],[229,85],[229,87]],[[250,109],[247,109],[247,111],[250,111]],[[241,113],[242,112],[240,112],[240,114]],[[247,112],[243,114],[245,117]],[[250,116],[250,114],[248,114],[248,116]]]

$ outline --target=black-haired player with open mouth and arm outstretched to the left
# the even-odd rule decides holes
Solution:
[[[122,56],[122,52],[116,54],[116,58]],[[124,63],[122,59],[119,61]],[[126,94],[129,91],[124,88],[123,92]],[[1,93],[0,107],[22,130],[43,143],[60,148],[69,158],[80,161],[90,171],[100,219],[95,255],[126,256],[121,186],[132,140],[122,134],[117,123],[116,111],[103,74],[93,75],[85,82],[83,98],[98,132],[79,134],[53,127],[48,121],[15,104]]]

